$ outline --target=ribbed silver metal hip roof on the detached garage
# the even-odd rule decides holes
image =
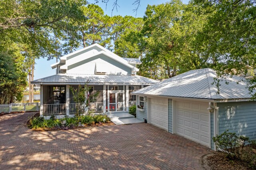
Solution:
[[[227,76],[220,81],[220,94],[217,94],[214,82],[216,72],[213,69],[198,69],[182,73],[160,83],[145,87],[133,93],[170,97],[186,97],[198,99],[248,99],[248,89],[244,78]],[[239,82],[239,83],[237,83]]]

